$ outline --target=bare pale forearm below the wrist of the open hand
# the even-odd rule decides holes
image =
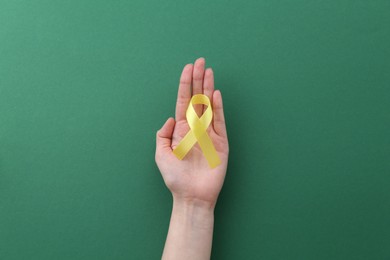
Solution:
[[[214,206],[174,199],[162,259],[210,259],[213,228]]]

